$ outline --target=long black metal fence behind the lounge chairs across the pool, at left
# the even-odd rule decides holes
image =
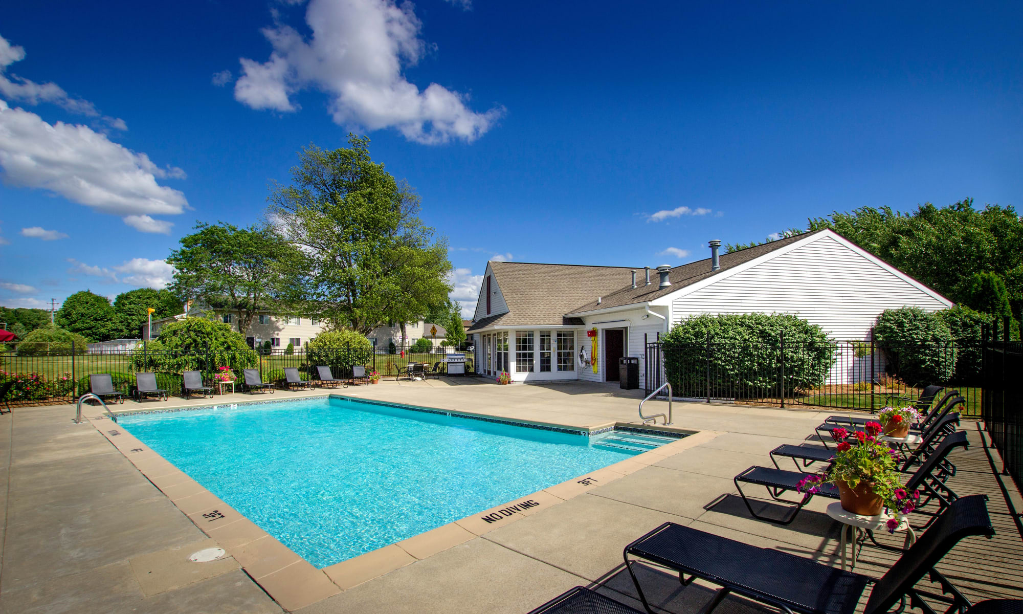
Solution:
[[[181,374],[203,371],[207,385],[213,385],[221,367],[237,380],[241,369],[258,368],[264,382],[284,380],[284,368],[296,367],[303,379],[316,379],[316,366],[328,365],[333,377],[349,378],[352,367],[361,364],[367,372],[397,377],[409,362],[429,362],[444,368],[443,354],[377,354],[372,349],[344,347],[329,350],[300,348],[216,350],[199,348],[190,352],[149,351],[143,343],[131,351],[85,351],[72,345],[32,352],[0,352],[0,382],[14,381],[8,400],[15,404],[72,401],[89,391],[89,376],[109,374],[115,388],[128,394],[135,386],[135,374],[157,374],[157,384],[170,392],[181,391]],[[471,371],[472,355],[466,371]]]

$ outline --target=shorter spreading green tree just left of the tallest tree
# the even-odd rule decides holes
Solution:
[[[198,223],[195,229],[167,259],[175,268],[170,287],[174,295],[194,298],[214,310],[236,310],[239,333],[249,330],[257,311],[291,296],[291,272],[299,270],[293,261],[300,256],[273,228],[220,222]]]

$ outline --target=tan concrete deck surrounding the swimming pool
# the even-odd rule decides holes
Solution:
[[[496,386],[473,380],[387,382],[336,392],[578,428],[634,421],[639,398],[636,391],[599,385]],[[311,394],[323,393],[317,390]],[[189,402],[151,401],[141,406],[130,401],[114,409],[282,400],[306,394],[278,391],[274,395],[225,395]],[[665,405],[650,404],[652,411],[661,411]],[[6,488],[0,489],[6,511],[0,552],[0,611],[281,611],[280,604],[252,579],[264,579],[265,583],[269,574],[242,570],[243,555],[216,563],[187,562],[190,553],[211,544],[230,546],[242,541],[244,546],[260,537],[244,542],[244,531],[225,534],[222,541],[208,537],[154,485],[159,477],[147,480],[129,456],[112,445],[116,436],[108,439],[88,424],[73,424],[74,407],[14,411],[0,418],[0,463],[4,464],[6,480]],[[629,601],[631,581],[627,574],[621,574],[621,550],[666,520],[835,564],[838,526],[820,513],[827,501],[813,501],[809,507],[812,512],[804,512],[788,527],[779,527],[752,520],[735,496],[730,479],[751,465],[769,463],[769,449],[802,440],[831,413],[835,411],[676,402],[676,426],[714,431],[715,436],[694,439],[691,443],[695,445],[677,454],[482,535],[465,527],[460,527],[463,532],[445,529],[444,534],[424,534],[419,543],[400,549],[407,557],[405,564],[395,569],[393,563],[386,563],[382,569],[389,573],[362,583],[302,585],[288,577],[300,562],[282,562],[286,564],[278,569],[281,584],[290,586],[295,597],[281,604],[288,602],[284,604],[288,608],[310,614],[528,612],[575,584],[599,583],[602,590],[615,599],[635,605]],[[87,414],[98,412],[93,409]],[[980,443],[973,423],[964,422],[963,429],[974,444]],[[130,453],[132,448],[128,449]],[[1018,588],[1023,584],[1023,549],[985,450],[972,445],[953,462],[960,467],[953,478],[957,491],[990,495],[998,534],[991,541],[971,538],[958,547],[954,556],[946,559],[949,577],[973,599],[1019,599],[1023,597]],[[1011,483],[1009,487],[1011,495],[1018,497]],[[182,494],[184,490],[187,488],[172,492],[172,496],[196,494]],[[199,507],[203,502],[195,501]],[[1018,498],[1016,506],[1021,509]],[[254,550],[260,547],[256,544]],[[878,576],[892,561],[888,555],[865,549],[857,570]],[[368,577],[377,575],[372,569],[363,571]],[[649,573],[657,574],[653,570]],[[980,579],[968,579],[978,576]],[[657,586],[663,590],[655,599],[666,612],[695,612],[710,598],[710,590],[698,585],[680,590],[677,580]],[[722,608],[758,609],[733,598],[725,600]]]

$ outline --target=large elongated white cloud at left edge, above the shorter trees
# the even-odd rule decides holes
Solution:
[[[143,232],[168,231],[150,215],[178,215],[183,193],[157,183],[184,171],[162,169],[87,126],[50,125],[34,113],[0,100],[0,167],[15,187],[43,188],[99,213],[122,216]]]

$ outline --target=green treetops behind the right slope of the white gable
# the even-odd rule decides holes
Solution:
[[[809,229],[832,228],[944,294],[967,303],[975,273],[990,271],[1006,284],[1014,316],[1023,310],[1023,220],[1015,209],[948,207],[927,203],[911,213],[863,207],[809,220]]]

